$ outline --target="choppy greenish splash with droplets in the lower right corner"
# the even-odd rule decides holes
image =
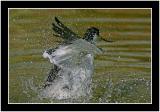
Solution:
[[[108,79],[103,94],[97,99],[99,103],[145,103],[151,102],[151,82],[144,78],[120,80],[114,83]]]

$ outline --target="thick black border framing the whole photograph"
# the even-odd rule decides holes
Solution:
[[[152,8],[152,104],[8,104],[8,8]],[[1,109],[3,111],[159,110],[158,1],[2,1],[1,24]]]

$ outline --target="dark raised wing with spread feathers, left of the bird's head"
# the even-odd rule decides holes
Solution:
[[[61,37],[65,41],[72,41],[80,38],[76,33],[74,33],[72,30],[70,30],[68,27],[66,27],[61,21],[58,20],[57,17],[55,17],[55,23],[52,23],[53,31],[56,34],[53,34],[54,36]]]

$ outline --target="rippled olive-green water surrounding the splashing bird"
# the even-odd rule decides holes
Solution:
[[[58,16],[80,36],[94,26],[103,38],[115,41],[97,44],[105,52],[95,57],[91,97],[70,103],[150,103],[150,15],[148,9],[10,9],[9,102],[65,102],[40,100],[34,92],[52,66],[43,51],[62,41],[52,35],[51,23]]]

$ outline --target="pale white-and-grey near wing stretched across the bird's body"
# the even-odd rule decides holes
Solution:
[[[83,39],[77,39],[72,44],[59,46],[57,49],[51,49],[44,52],[43,57],[49,58],[50,62],[65,68],[85,67],[84,59],[87,54],[99,54],[96,46]]]

